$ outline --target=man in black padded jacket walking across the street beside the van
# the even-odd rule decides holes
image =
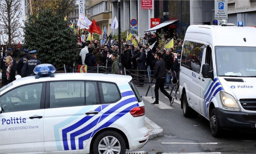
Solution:
[[[173,104],[174,98],[168,94],[168,92],[164,89],[165,86],[165,76],[166,76],[166,67],[165,62],[160,59],[161,54],[158,52],[155,54],[155,59],[157,59],[157,62],[155,63],[155,71],[154,71],[154,77],[156,79],[155,82],[155,102],[151,105],[159,105],[159,94],[158,90],[160,88],[160,91],[167,96],[170,100],[170,105]]]

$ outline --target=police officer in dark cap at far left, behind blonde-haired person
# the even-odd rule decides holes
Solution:
[[[1,61],[0,61],[0,68],[3,71],[2,72],[2,86],[5,86],[7,84],[7,75],[6,75],[6,67],[5,67],[6,57],[7,56],[11,56],[12,57],[12,49],[11,48],[8,48],[7,55],[2,57]],[[17,69],[16,60],[13,57],[12,57],[12,60],[13,60],[13,64],[15,66],[15,69]]]

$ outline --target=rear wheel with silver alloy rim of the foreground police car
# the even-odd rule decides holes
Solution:
[[[125,154],[126,150],[124,138],[112,130],[100,133],[92,144],[93,154]]]

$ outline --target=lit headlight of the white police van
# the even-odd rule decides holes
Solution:
[[[221,96],[221,103],[224,108],[229,109],[229,110],[236,110],[236,111],[237,111],[237,109],[240,109],[240,107],[237,104],[236,99],[232,95],[227,94],[224,91],[221,91],[220,96]]]

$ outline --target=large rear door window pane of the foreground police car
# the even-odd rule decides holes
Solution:
[[[50,108],[83,106],[84,82],[51,82],[50,83]]]

